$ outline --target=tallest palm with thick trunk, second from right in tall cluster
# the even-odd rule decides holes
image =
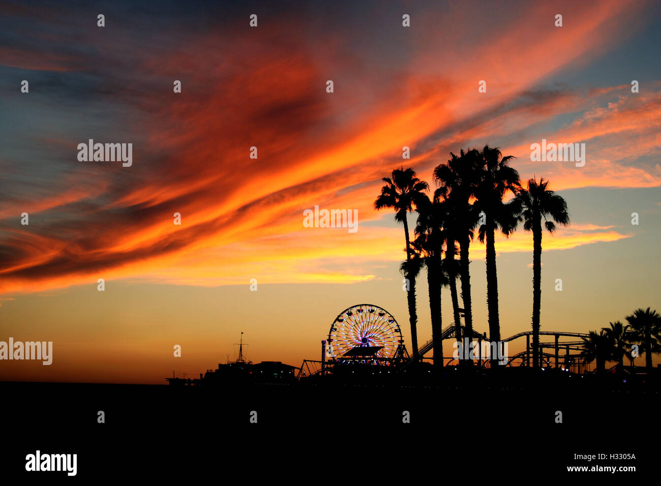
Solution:
[[[502,157],[498,147],[485,145],[482,151],[483,166],[479,175],[479,183],[475,196],[477,210],[484,213],[485,223],[479,227],[479,240],[486,239],[486,307],[488,311],[489,339],[492,343],[500,343],[500,319],[498,318],[498,274],[496,272],[495,231],[500,229],[503,235],[509,236],[521,221],[521,205],[518,199],[503,202],[508,194],[516,195],[521,189],[519,173],[508,166],[512,155]],[[496,366],[497,359],[492,358],[491,368]]]

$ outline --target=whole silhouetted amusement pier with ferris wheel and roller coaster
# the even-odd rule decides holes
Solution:
[[[524,331],[512,337],[504,339],[499,343],[486,343],[486,333],[480,334],[473,330],[470,336],[463,325],[454,323],[442,329],[437,339],[455,339],[465,341],[471,348],[473,355],[467,358],[470,364],[477,364],[477,369],[488,368],[491,365],[487,353],[483,355],[482,344],[494,344],[502,346],[502,353],[498,349],[499,361],[505,366],[529,367],[532,364],[533,347],[531,346],[531,331]],[[584,342],[580,339],[586,334],[567,333],[556,331],[540,331],[540,336],[553,336],[555,341],[551,343],[539,343],[539,366],[540,368],[562,368],[565,371],[581,373],[586,370],[586,361],[580,353]],[[506,343],[525,337],[525,350],[507,356]],[[560,341],[561,337],[573,337],[572,341]],[[471,344],[472,343],[472,344]],[[282,362],[262,361],[258,364],[246,360],[243,352],[243,332],[241,341],[235,343],[239,346],[239,356],[236,361],[227,364],[218,364],[215,370],[207,370],[206,374],[200,373],[200,378],[188,380],[166,378],[171,385],[198,385],[198,384],[223,384],[230,382],[254,382],[254,383],[287,383],[300,381],[301,378],[311,376],[334,375],[336,378],[353,376],[358,378],[365,375],[417,372],[430,372],[431,366],[425,360],[425,354],[432,351],[434,338],[423,343],[418,348],[418,363],[407,352],[404,344],[401,326],[397,319],[383,307],[374,304],[357,304],[347,307],[340,312],[332,321],[327,339],[321,341],[321,360],[303,360],[300,368],[289,366]],[[458,344],[458,343],[457,343]],[[488,348],[488,346],[487,346]],[[545,352],[545,349],[553,348],[554,353]],[[486,349],[486,348],[485,348]],[[495,348],[497,349],[497,348]],[[561,356],[561,349],[564,354]],[[570,354],[570,350],[575,351]],[[578,352],[576,352],[578,351]],[[496,354],[492,354],[496,356]],[[457,356],[459,356],[457,354]],[[504,356],[504,359],[501,358]],[[444,366],[455,366],[459,364],[456,356],[443,357]],[[422,363],[422,364],[420,364]],[[412,366],[414,365],[414,366]],[[420,365],[420,366],[418,366]],[[426,373],[425,373],[426,374]],[[340,381],[342,381],[340,379]]]

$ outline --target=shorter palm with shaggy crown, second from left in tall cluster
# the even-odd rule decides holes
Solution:
[[[441,289],[442,286],[447,284],[441,261],[444,241],[441,206],[442,203],[431,202],[428,198],[424,198],[418,204],[416,239],[411,243],[416,252],[422,257],[424,266],[427,268],[429,309],[432,317],[432,339],[434,339],[434,368],[437,372],[441,372],[443,368]]]

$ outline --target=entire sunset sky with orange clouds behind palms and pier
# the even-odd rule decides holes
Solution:
[[[571,225],[542,243],[542,329],[661,311],[658,2],[220,4],[0,2],[0,341],[54,346],[51,366],[2,361],[0,380],[194,378],[235,358],[241,331],[253,361],[300,366],[360,303],[393,313],[410,350],[381,177],[404,164],[433,189],[450,151],[486,143],[568,204]],[[79,161],[89,139],[132,143],[132,167]],[[585,143],[585,166],[531,162],[542,139]],[[358,210],[358,231],[304,227],[315,205]],[[508,337],[530,329],[532,236],[497,236],[496,251]],[[480,332],[484,254],[476,240]]]

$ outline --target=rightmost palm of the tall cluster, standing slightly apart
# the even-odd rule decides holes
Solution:
[[[533,366],[539,368],[539,317],[541,313],[541,220],[544,226],[553,235],[555,223],[563,226],[569,224],[567,203],[548,188],[549,181],[535,179],[527,182],[527,189],[518,191],[518,204],[521,204],[525,231],[533,232]],[[551,218],[553,221],[549,221]],[[555,223],[554,223],[555,222]]]

